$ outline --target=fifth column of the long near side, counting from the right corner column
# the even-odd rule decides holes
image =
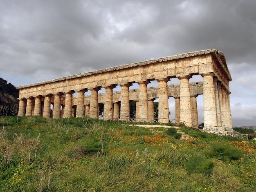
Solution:
[[[130,121],[130,96],[129,96],[130,83],[121,85],[121,107],[120,119],[123,121]]]

